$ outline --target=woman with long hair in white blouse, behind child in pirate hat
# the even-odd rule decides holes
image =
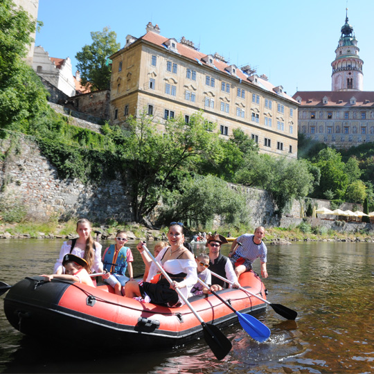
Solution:
[[[64,274],[62,260],[67,253],[84,258],[89,264],[91,273],[102,273],[103,262],[101,262],[101,244],[95,242],[91,236],[91,222],[82,218],[77,222],[77,233],[79,238],[64,242],[61,247],[60,257],[55,263],[53,274]]]

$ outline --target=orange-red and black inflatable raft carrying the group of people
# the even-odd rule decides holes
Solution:
[[[253,271],[240,276],[240,284],[266,299],[265,286]],[[242,290],[228,289],[220,296],[241,313],[258,314],[266,303]],[[220,328],[238,322],[235,313],[216,296],[188,299],[206,323]],[[12,286],[4,310],[14,328],[26,335],[68,340],[94,346],[95,337],[108,348],[176,346],[202,337],[202,325],[188,306],[167,308],[117,296],[108,285],[96,288],[41,277],[28,277]],[[69,332],[69,333],[68,333]]]

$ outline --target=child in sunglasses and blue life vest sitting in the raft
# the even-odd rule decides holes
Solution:
[[[117,231],[116,244],[111,244],[105,249],[103,254],[104,270],[110,273],[110,276],[103,276],[103,281],[114,288],[117,295],[122,296],[122,287],[129,280],[134,279],[132,271],[132,251],[129,247],[125,247],[127,242],[126,231]],[[128,267],[129,276],[125,276]]]

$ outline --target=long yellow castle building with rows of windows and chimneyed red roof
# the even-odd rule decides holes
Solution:
[[[146,30],[139,38],[127,35],[125,46],[110,57],[112,123],[125,125],[127,116],[145,110],[162,131],[168,118],[181,115],[188,123],[203,110],[222,137],[240,128],[260,152],[297,157],[299,104],[282,86],[250,66],[201,53],[184,37],[163,37],[157,25],[149,23]]]

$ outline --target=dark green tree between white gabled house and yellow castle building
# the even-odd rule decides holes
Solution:
[[[80,82],[92,90],[109,89],[112,66],[107,64],[107,59],[121,48],[121,44],[116,42],[117,34],[109,30],[105,27],[103,31],[91,32],[92,44],[86,44],[75,55]]]

